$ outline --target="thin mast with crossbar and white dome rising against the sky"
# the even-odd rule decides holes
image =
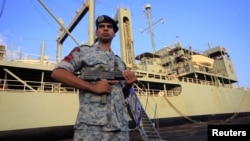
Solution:
[[[145,9],[146,9],[146,12],[147,12],[147,18],[148,18],[149,27],[145,28],[144,30],[141,30],[141,33],[143,33],[144,31],[146,31],[146,30],[149,29],[150,37],[151,37],[151,43],[152,43],[152,49],[153,49],[153,53],[155,53],[154,33],[153,33],[152,27],[155,24],[159,23],[159,22],[161,22],[161,23],[164,23],[164,22],[163,22],[163,18],[161,18],[158,21],[156,21],[155,23],[152,23],[151,16],[150,16],[151,15],[151,6],[150,6],[150,4],[146,4]]]

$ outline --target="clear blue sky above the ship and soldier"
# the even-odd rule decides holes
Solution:
[[[69,25],[85,0],[41,0],[57,19]],[[129,9],[135,55],[152,52],[145,6],[151,5],[155,50],[180,42],[184,48],[203,52],[210,47],[225,47],[238,76],[238,86],[250,87],[250,1],[249,0],[95,0],[95,17],[116,15],[119,7]],[[158,22],[160,19],[161,22]],[[79,43],[88,40],[88,14],[71,33]],[[141,32],[144,31],[144,32]],[[0,44],[9,54],[21,51],[45,55],[55,61],[59,24],[38,0],[0,1]],[[67,38],[62,57],[76,46]],[[113,51],[120,55],[119,34]]]

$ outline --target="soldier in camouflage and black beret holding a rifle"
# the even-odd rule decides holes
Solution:
[[[118,31],[116,22],[107,15],[96,19],[94,46],[75,47],[53,70],[55,80],[80,89],[80,107],[74,126],[74,141],[128,141],[128,115],[125,98],[136,81],[135,73],[111,50]],[[122,71],[124,80],[85,81],[75,72],[86,70]],[[103,95],[106,98],[103,101]]]

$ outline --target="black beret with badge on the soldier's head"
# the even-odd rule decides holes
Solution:
[[[98,28],[98,25],[99,25],[100,23],[110,23],[110,24],[112,24],[115,33],[116,33],[116,32],[118,31],[118,29],[119,29],[118,26],[117,26],[116,21],[115,21],[114,19],[110,18],[110,17],[107,16],[107,15],[101,15],[101,16],[98,16],[98,17],[96,18],[96,21],[95,21],[96,28]]]

